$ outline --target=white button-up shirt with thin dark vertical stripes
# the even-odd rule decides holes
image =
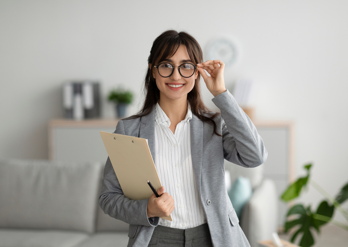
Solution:
[[[187,229],[207,223],[200,202],[191,157],[190,124],[192,112],[169,129],[171,122],[158,103],[155,106],[155,165],[159,179],[174,198],[173,221],[160,218],[159,225]]]

